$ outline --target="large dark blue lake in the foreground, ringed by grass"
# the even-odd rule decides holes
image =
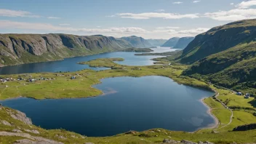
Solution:
[[[215,124],[200,100],[214,95],[162,76],[103,79],[94,87],[105,95],[85,99],[1,101],[23,111],[33,124],[64,128],[87,136],[164,128],[192,132]]]

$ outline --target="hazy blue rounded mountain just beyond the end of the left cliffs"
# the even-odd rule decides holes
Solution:
[[[129,45],[132,45],[132,47],[137,48],[145,48],[145,47],[151,47],[152,45],[142,37],[137,36],[128,36],[128,37],[121,37],[121,40],[127,41]]]

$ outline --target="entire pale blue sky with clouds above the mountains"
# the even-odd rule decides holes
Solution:
[[[196,36],[256,18],[256,0],[0,0],[0,33]]]

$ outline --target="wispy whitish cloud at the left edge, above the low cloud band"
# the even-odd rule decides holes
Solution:
[[[0,16],[2,17],[40,17],[39,15],[33,15],[31,12],[11,9],[0,9]]]

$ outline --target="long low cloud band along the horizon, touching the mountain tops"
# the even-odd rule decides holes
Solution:
[[[196,36],[207,31],[208,28],[195,28],[182,30],[178,27],[157,27],[154,30],[145,30],[137,27],[113,27],[113,28],[71,28],[47,23],[23,23],[10,20],[0,20],[0,31],[19,29],[19,33],[69,33],[77,35],[103,34],[105,36],[143,36],[146,39],[169,39],[174,36]]]

